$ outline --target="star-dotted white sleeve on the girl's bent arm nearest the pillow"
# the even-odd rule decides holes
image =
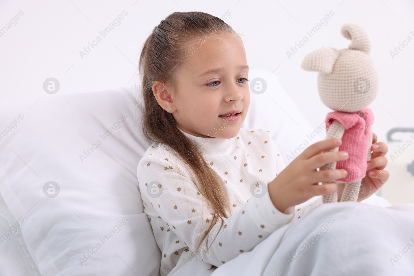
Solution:
[[[181,165],[184,164],[161,148],[151,155],[144,155],[138,164],[144,212],[150,217],[165,261],[172,255],[171,258],[179,258],[181,263],[186,263],[199,255],[204,262],[220,266],[241,252],[252,250],[294,216],[293,206],[286,214],[278,211],[268,193],[260,198],[252,196],[242,206],[231,206],[232,215],[225,219],[221,230],[219,220],[197,252],[198,242],[212,222],[213,210]],[[209,250],[206,252],[207,247]],[[183,254],[187,256],[183,257]]]

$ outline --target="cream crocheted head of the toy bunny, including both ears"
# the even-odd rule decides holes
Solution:
[[[321,48],[305,56],[302,68],[317,71],[319,96],[335,111],[357,112],[378,93],[378,76],[369,56],[371,43],[357,24],[347,23],[341,34],[351,40],[348,48]]]

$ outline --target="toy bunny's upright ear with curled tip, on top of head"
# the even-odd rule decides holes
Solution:
[[[341,28],[341,34],[344,38],[351,40],[348,49],[360,50],[369,55],[371,43],[369,42],[368,34],[361,26],[354,23],[344,24]]]

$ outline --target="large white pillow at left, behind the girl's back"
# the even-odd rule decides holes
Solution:
[[[159,275],[137,186],[151,144],[137,133],[141,108],[128,89],[0,105],[0,193],[12,214],[3,218],[24,219],[42,276]]]

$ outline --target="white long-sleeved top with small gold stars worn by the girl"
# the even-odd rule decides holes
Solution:
[[[322,204],[318,200],[310,208],[314,202],[299,210],[291,206],[285,214],[273,205],[267,184],[286,166],[269,131],[241,128],[230,139],[196,137],[180,131],[197,145],[220,176],[231,215],[224,219],[221,230],[221,220],[217,221],[197,251],[213,210],[197,189],[190,168],[169,146],[153,143],[138,164],[137,176],[144,212],[161,250],[161,276],[173,275],[195,257],[220,266],[299,219],[304,210]]]

